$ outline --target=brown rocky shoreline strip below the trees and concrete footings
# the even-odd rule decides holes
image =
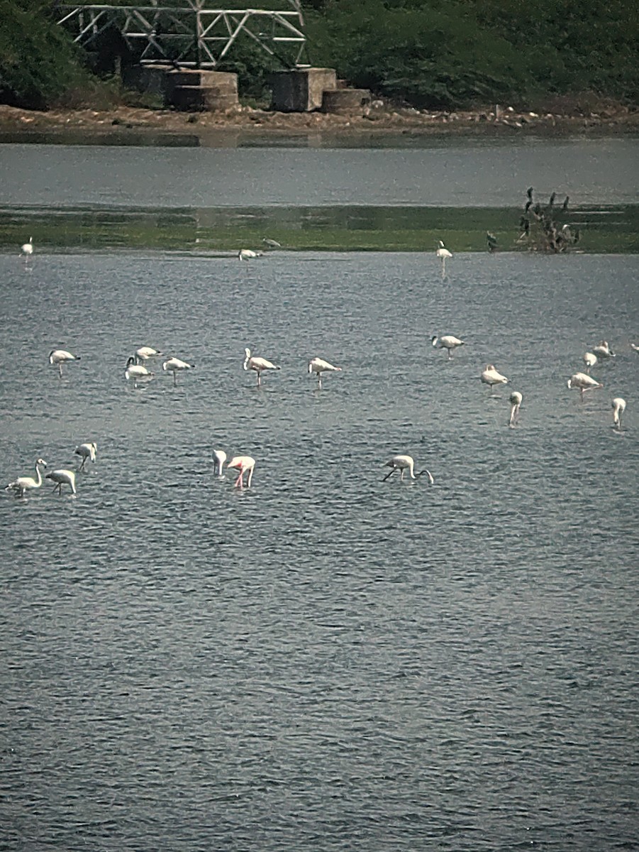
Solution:
[[[639,112],[608,107],[601,112],[426,112],[414,109],[375,109],[367,116],[328,115],[322,112],[270,112],[240,107],[230,112],[175,112],[166,109],[113,107],[108,110],[51,110],[35,112],[0,105],[0,141],[66,141],[87,138],[85,143],[108,137],[114,144],[154,144],[154,135],[166,137],[164,144],[198,145],[207,141],[232,141],[233,136],[276,141],[282,137],[309,139],[326,136],[341,141],[392,135],[428,138],[436,135],[512,138],[569,135],[626,135],[639,133]],[[41,140],[42,141],[42,138]],[[48,140],[49,141],[49,140]],[[320,141],[318,139],[318,141]],[[156,143],[157,144],[157,143]]]

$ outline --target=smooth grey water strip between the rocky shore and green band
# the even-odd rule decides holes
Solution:
[[[316,150],[9,144],[0,179],[3,204],[56,208],[510,206],[530,184],[544,200],[556,191],[573,204],[634,204],[637,162],[631,136]]]

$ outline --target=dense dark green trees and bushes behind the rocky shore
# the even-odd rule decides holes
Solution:
[[[288,7],[265,5],[276,3]],[[628,0],[305,0],[304,7],[311,62],[394,101],[431,109],[637,101],[639,15]],[[52,3],[0,0],[0,20],[0,100],[37,108],[122,101],[117,86],[100,85],[88,71],[112,72],[116,55],[135,60],[117,32],[88,55],[55,23]],[[281,67],[241,37],[220,70],[237,72],[241,94],[259,100]]]

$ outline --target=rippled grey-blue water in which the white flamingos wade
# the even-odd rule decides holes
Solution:
[[[98,444],[76,498],[0,501],[3,849],[639,847],[639,260],[447,272],[0,257],[5,481]],[[142,343],[197,367],[135,391]],[[261,390],[245,346],[282,366]],[[382,483],[397,452],[436,484]]]

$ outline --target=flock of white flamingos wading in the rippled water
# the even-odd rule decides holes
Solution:
[[[274,243],[273,245],[279,244]],[[21,250],[22,255],[27,261],[33,253],[33,241],[31,238],[28,243],[22,245]],[[238,254],[240,260],[247,260],[248,256],[254,257],[257,255],[256,253],[246,249],[240,250]],[[436,256],[442,262],[443,273],[446,260],[453,255],[450,251],[448,251],[448,249],[446,249],[441,240],[438,241],[437,244]],[[453,335],[444,335],[443,337],[437,337],[435,335],[431,338],[431,343],[434,347],[446,349],[448,359],[453,357],[453,353],[456,348],[464,345],[463,340],[459,340],[459,337],[454,337]],[[639,344],[630,343],[630,347],[636,352],[639,352]],[[162,352],[150,346],[141,346],[135,351],[135,354],[128,359],[124,370],[124,377],[128,382],[133,382],[134,388],[137,388],[140,383],[148,381],[153,376],[153,373],[145,366],[145,361],[160,357],[162,354]],[[583,356],[585,372],[573,373],[573,375],[568,379],[568,388],[578,389],[582,399],[587,390],[602,388],[602,383],[597,382],[595,378],[591,377],[591,367],[595,366],[598,360],[608,360],[614,357],[616,357],[615,353],[608,344],[608,341],[602,340],[600,343],[597,343],[597,345],[592,348],[591,352],[586,352]],[[71,361],[77,360],[80,360],[80,355],[67,352],[66,349],[52,349],[48,354],[49,364],[57,366],[60,378],[62,377],[62,366]],[[258,386],[262,383],[262,372],[280,369],[279,366],[272,364],[271,361],[252,355],[251,350],[248,348],[244,349],[243,366],[244,370],[253,370],[255,372]],[[177,383],[178,373],[186,370],[192,370],[194,367],[195,364],[190,364],[188,361],[175,357],[164,361],[162,365],[164,372],[170,372],[173,374],[174,384]],[[322,358],[313,358],[309,361],[308,365],[309,373],[314,373],[317,376],[317,387],[319,389],[322,388],[322,373],[336,372],[340,370],[341,367],[333,366],[332,364],[329,364],[328,361],[322,360]],[[503,376],[493,364],[488,364],[485,367],[482,371],[481,380],[482,383],[488,384],[491,392],[494,385],[499,386],[500,384],[508,383],[508,378]],[[520,394],[519,391],[513,391],[510,395],[511,413],[508,425],[511,429],[515,428],[519,417],[519,409],[522,405],[522,399],[522,394]],[[625,412],[625,406],[625,400],[620,396],[615,397],[612,401],[613,426],[619,431],[621,430],[621,417]],[[97,445],[94,441],[80,444],[76,447],[74,452],[80,457],[80,463],[77,470],[84,470],[86,463],[95,461]],[[222,475],[222,469],[225,465],[227,468],[235,468],[239,471],[239,475],[235,481],[235,486],[240,488],[244,486],[244,474],[246,474],[246,486],[250,487],[251,481],[253,480],[255,459],[252,456],[234,456],[231,458],[231,461],[227,462],[226,458],[226,453],[223,450],[214,450],[216,475]],[[431,484],[434,482],[433,476],[429,470],[424,469],[419,471],[419,473],[415,472],[415,463],[412,456],[393,456],[393,458],[389,459],[389,461],[385,463],[385,466],[391,468],[391,470],[387,475],[385,475],[383,481],[386,481],[391,475],[396,473],[396,471],[399,471],[400,480],[403,480],[404,474],[408,472],[408,477],[410,479],[417,479],[418,476],[426,475]],[[43,485],[42,469],[47,467],[47,463],[42,458],[38,458],[35,467],[35,477],[19,476],[13,482],[9,482],[5,491],[13,491],[17,497],[24,498],[26,492],[41,487]],[[51,470],[44,478],[54,482],[54,491],[57,491],[59,494],[62,493],[63,485],[68,485],[72,494],[77,493],[76,471],[68,469]]]

